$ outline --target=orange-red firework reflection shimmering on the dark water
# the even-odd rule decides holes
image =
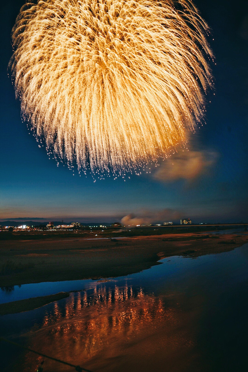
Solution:
[[[94,284],[94,288],[55,302],[40,328],[36,325],[26,335],[29,346],[97,372],[125,371],[127,366],[138,371],[144,363],[142,371],[146,371],[158,352],[159,363],[165,363],[163,359],[178,347],[192,345],[179,328],[179,306],[169,306],[167,298],[145,294],[142,288],[127,283],[123,287]],[[27,353],[23,370],[34,371],[39,360]],[[71,370],[46,359],[44,371]]]

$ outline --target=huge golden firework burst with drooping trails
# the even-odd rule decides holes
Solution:
[[[138,169],[186,142],[212,85],[208,26],[188,0],[25,4],[10,60],[23,117],[78,169]]]

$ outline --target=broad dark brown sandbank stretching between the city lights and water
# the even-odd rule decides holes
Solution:
[[[164,257],[221,253],[247,241],[248,232],[1,241],[0,287],[124,276],[149,269]]]

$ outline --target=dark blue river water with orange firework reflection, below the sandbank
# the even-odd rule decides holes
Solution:
[[[108,281],[35,283],[1,302],[78,291],[37,310],[0,317],[11,340],[92,371],[246,370],[248,244],[161,260]],[[35,371],[39,356],[0,343],[3,371]],[[14,357],[13,357],[14,355]],[[43,372],[73,371],[45,359]]]

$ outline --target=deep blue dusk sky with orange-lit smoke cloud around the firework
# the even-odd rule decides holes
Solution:
[[[0,220],[113,222],[133,214],[152,222],[248,221],[247,0],[194,2],[212,29],[216,65],[206,124],[192,135],[189,151],[179,150],[151,175],[96,182],[49,160],[21,121],[7,65],[23,3],[1,2]]]

